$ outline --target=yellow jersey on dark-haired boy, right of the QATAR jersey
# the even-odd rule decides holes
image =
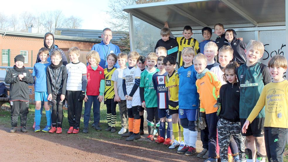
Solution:
[[[170,91],[171,101],[178,101],[178,91],[179,91],[179,75],[178,72],[174,70],[173,74],[165,78],[165,86],[168,87]]]

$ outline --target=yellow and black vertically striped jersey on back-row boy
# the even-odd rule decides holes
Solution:
[[[185,39],[184,37],[176,37],[175,39],[179,45],[178,63],[180,66],[184,66],[184,62],[182,60],[182,55],[181,55],[182,51],[184,50],[185,47],[193,47],[195,50],[195,53],[197,53],[199,49],[199,42],[194,38]]]

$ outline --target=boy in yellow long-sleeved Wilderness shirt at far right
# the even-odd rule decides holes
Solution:
[[[273,56],[268,62],[269,73],[273,78],[264,86],[261,95],[243,125],[246,133],[258,113],[265,106],[264,138],[269,162],[283,161],[283,152],[288,134],[288,81],[283,78],[287,70],[287,60],[280,55]]]

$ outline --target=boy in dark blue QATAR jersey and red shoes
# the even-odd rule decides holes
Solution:
[[[167,77],[168,72],[164,69],[163,59],[165,56],[160,56],[157,59],[157,67],[159,69],[152,76],[154,90],[156,90],[157,94],[157,105],[158,105],[158,116],[160,118],[160,126],[159,132],[160,135],[155,140],[156,143],[163,143],[165,145],[171,145],[171,137],[172,137],[172,115],[168,110],[168,89],[165,86],[165,77]],[[165,139],[165,121],[167,121],[167,138]]]

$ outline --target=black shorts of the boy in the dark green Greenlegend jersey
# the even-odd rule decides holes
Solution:
[[[242,133],[242,136],[263,137],[264,136],[264,117],[255,118],[253,122],[248,126],[246,133]],[[240,119],[241,128],[243,127],[246,119]]]

